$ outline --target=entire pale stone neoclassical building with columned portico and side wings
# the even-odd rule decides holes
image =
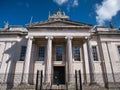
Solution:
[[[75,84],[80,70],[83,84],[120,84],[120,30],[70,20],[60,9],[48,20],[0,28],[0,83]]]

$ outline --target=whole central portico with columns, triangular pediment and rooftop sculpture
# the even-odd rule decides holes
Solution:
[[[64,83],[74,82],[75,70],[82,71],[83,82],[90,82],[90,77],[86,75],[90,73],[90,57],[86,55],[88,48],[85,37],[90,36],[88,31],[91,25],[70,21],[68,18],[58,10],[47,21],[27,25],[29,34],[23,83],[29,83],[27,73],[35,74],[37,70],[43,70],[44,83],[49,85],[53,82],[55,84],[57,71],[64,73]]]

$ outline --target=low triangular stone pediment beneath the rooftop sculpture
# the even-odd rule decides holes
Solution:
[[[91,26],[90,24],[75,22],[71,20],[47,20],[28,24],[27,27],[80,27]]]

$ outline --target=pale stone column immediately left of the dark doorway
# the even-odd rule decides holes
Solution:
[[[51,69],[52,69],[52,36],[45,37],[47,39],[46,52],[46,83],[51,84]]]

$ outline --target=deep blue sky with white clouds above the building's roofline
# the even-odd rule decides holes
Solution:
[[[93,25],[120,27],[120,0],[0,0],[0,27],[47,20],[48,13],[61,8],[71,20]]]

